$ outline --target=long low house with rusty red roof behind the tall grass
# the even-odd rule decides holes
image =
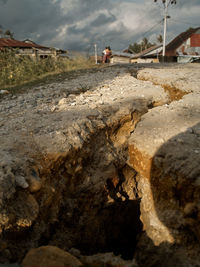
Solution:
[[[64,52],[56,48],[38,45],[29,39],[18,41],[10,38],[0,38],[0,50],[3,49],[15,49],[17,55],[33,58],[56,58],[57,55]]]

